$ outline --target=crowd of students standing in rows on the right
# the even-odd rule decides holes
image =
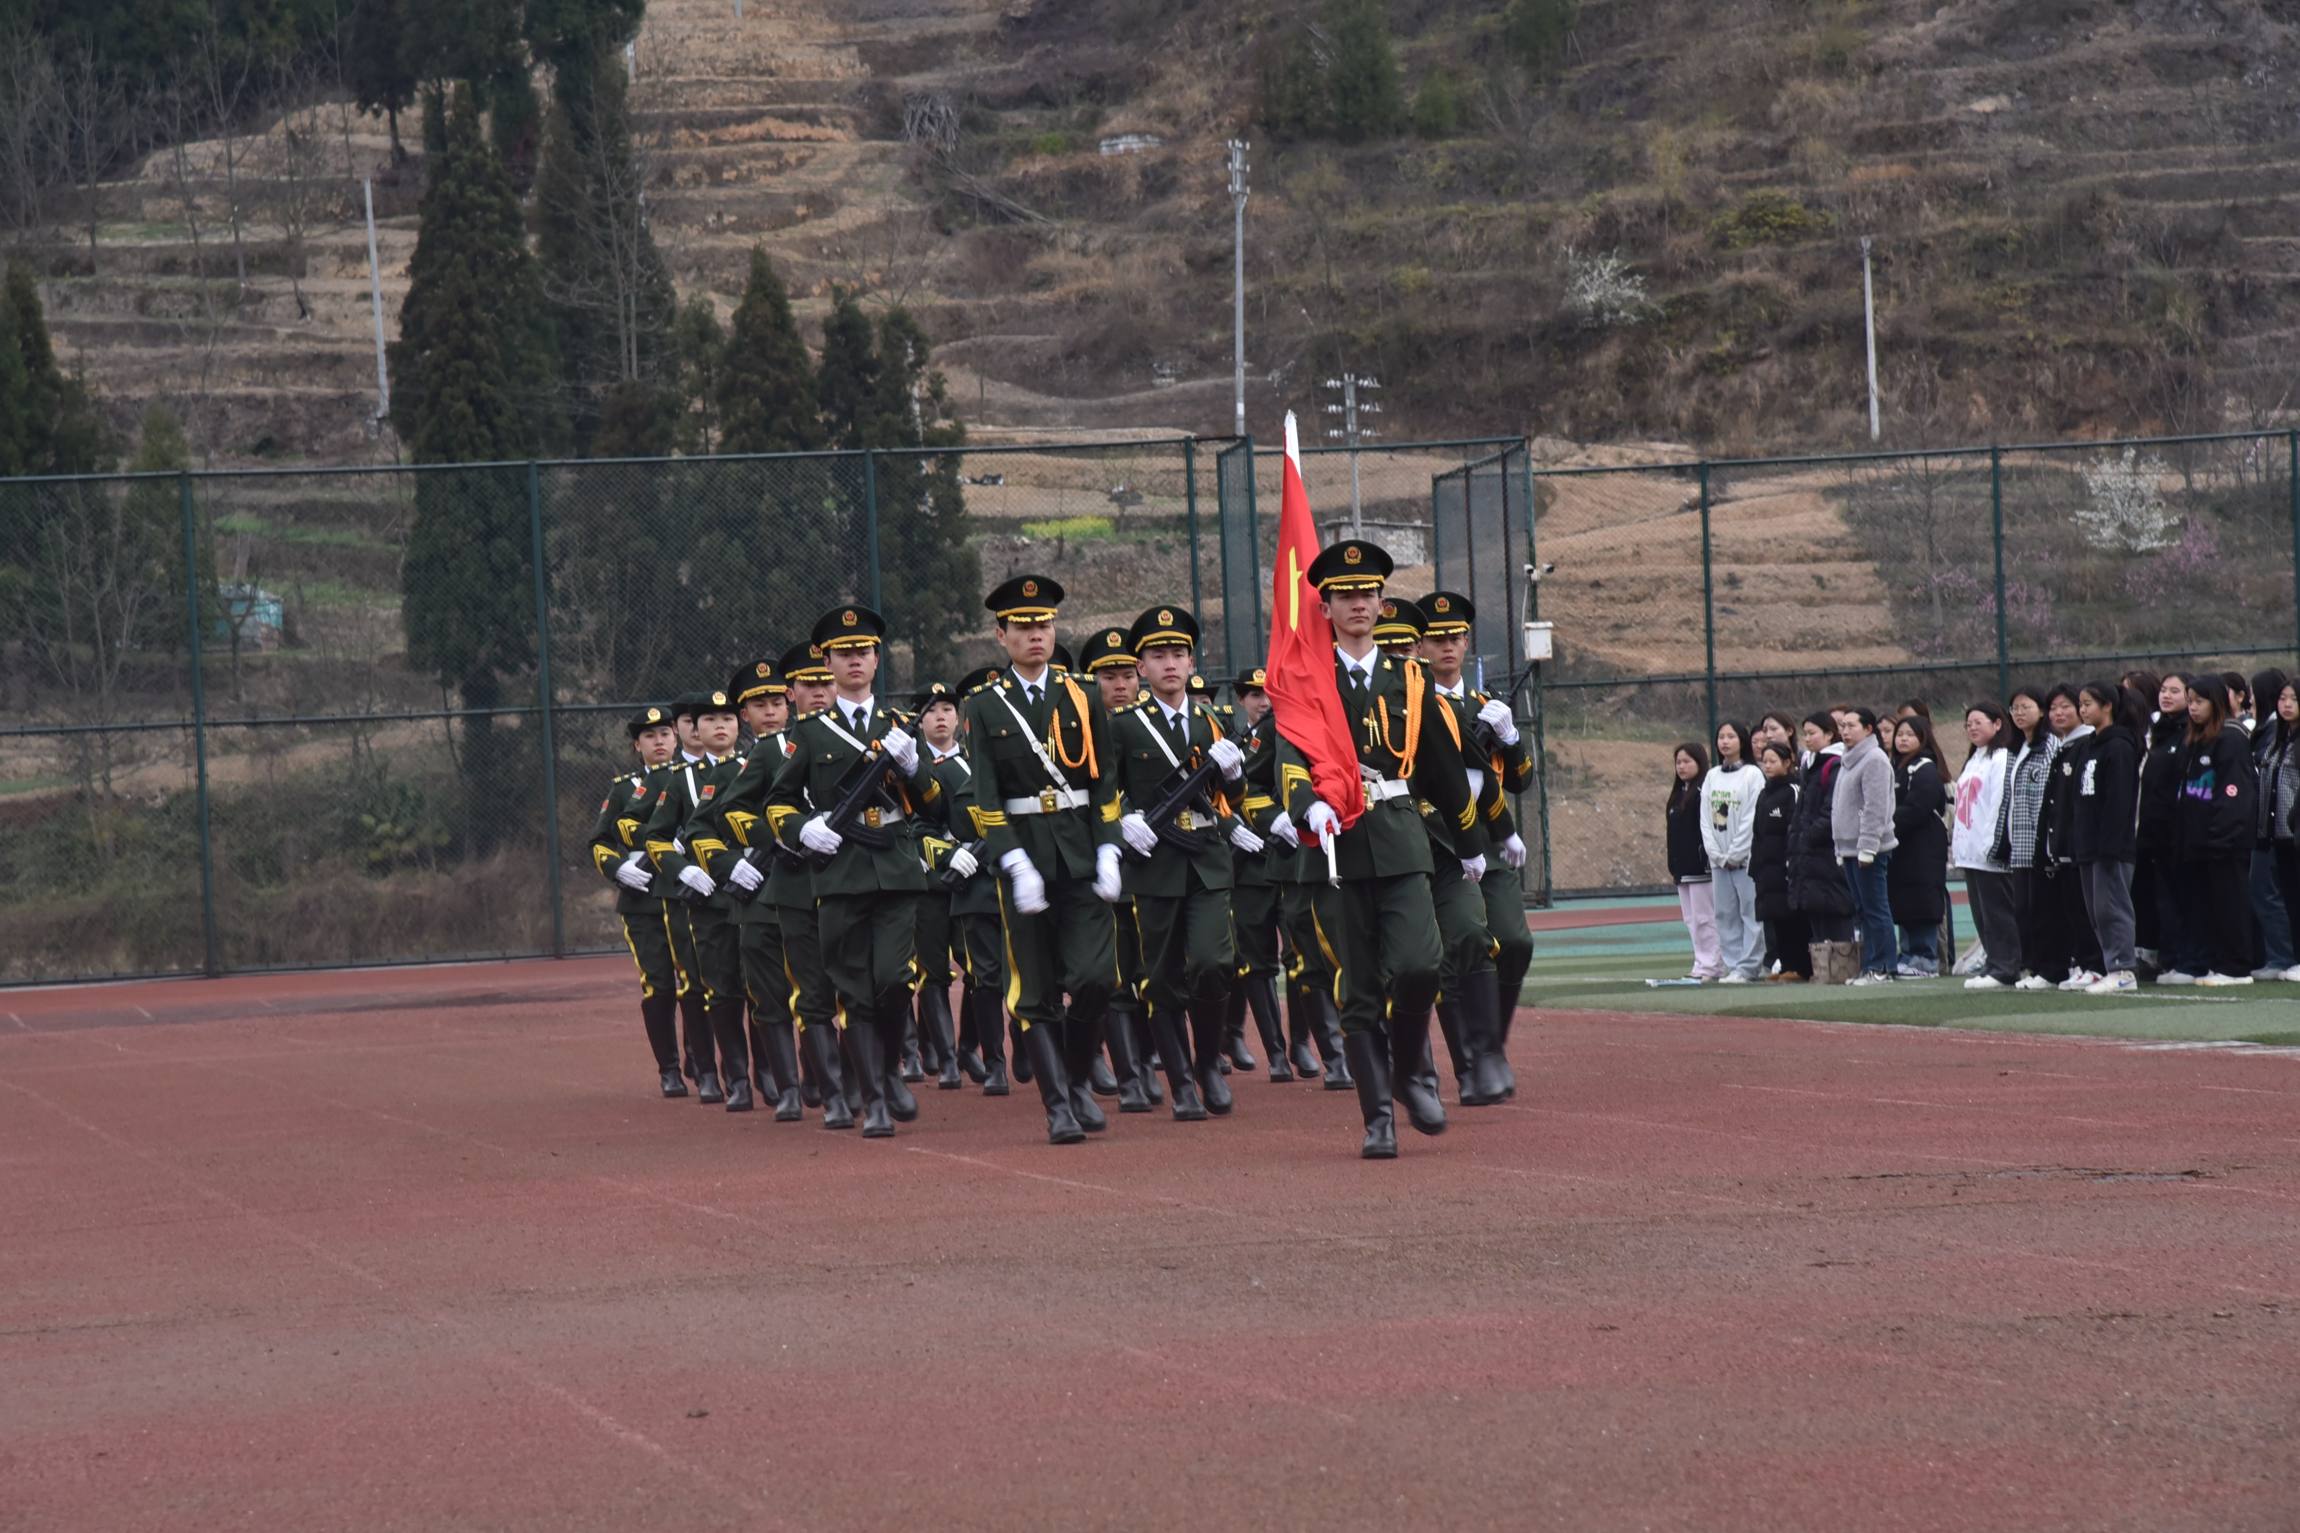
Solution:
[[[2254,717],[2254,701],[2261,712]],[[1969,991],[2300,984],[2300,678],[2128,671],[1964,710],[1727,722],[1677,747],[1693,979]],[[1950,871],[1973,942],[1955,949]]]

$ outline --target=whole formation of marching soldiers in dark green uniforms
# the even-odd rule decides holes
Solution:
[[[1506,795],[1534,763],[1509,703],[1463,680],[1467,598],[1385,598],[1389,570],[1355,540],[1309,570],[1366,798],[1346,830],[1260,669],[1217,703],[1178,604],[1074,660],[1044,575],[991,591],[1007,662],[954,685],[883,696],[885,618],[844,604],[635,712],[591,857],[662,1094],[888,1138],[929,1076],[1021,1083],[1074,1145],[1109,1128],[1102,1099],[1233,1112],[1251,1018],[1270,1080],[1355,1089],[1359,1154],[1392,1158],[1394,1103],[1447,1126],[1435,1014],[1460,1103],[1511,1096],[1534,945],[1518,880],[1486,869],[1525,862]]]

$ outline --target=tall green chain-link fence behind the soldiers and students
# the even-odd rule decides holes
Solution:
[[[1534,899],[1663,887],[1677,740],[1720,717],[2293,653],[2300,434],[1536,467],[1518,439],[1320,448],[1320,536],[1465,591],[1541,742]],[[1267,646],[1279,453],[943,453],[0,483],[0,979],[605,952],[584,841],[623,715],[867,600],[888,687],[1189,602]],[[1534,572],[1543,570],[1536,579]],[[1527,660],[1527,625],[1555,657]],[[545,699],[550,708],[545,712]]]

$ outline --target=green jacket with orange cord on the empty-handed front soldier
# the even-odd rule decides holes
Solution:
[[[1118,763],[1111,756],[1111,717],[1092,687],[1058,667],[1046,667],[1037,706],[1023,694],[1014,669],[998,671],[966,694],[966,765],[973,770],[975,830],[989,841],[994,869],[1014,848],[1030,853],[1040,878],[1092,878],[1095,848],[1118,846]],[[1017,719],[1014,715],[1021,715]],[[1028,733],[1023,733],[1028,731]],[[1046,775],[1030,740],[1053,761]],[[1086,811],[1007,814],[1007,800],[1037,798],[1053,788],[1088,795]]]

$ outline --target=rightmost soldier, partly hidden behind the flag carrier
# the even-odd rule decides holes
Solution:
[[[1493,1002],[1465,995],[1463,1004],[1477,1011],[1472,1030],[1483,1050],[1483,1069],[1490,1078],[1479,1080],[1479,1096],[1486,1101],[1509,1099],[1518,1092],[1516,1071],[1509,1069],[1509,1020],[1518,1009],[1525,988],[1525,970],[1534,961],[1534,933],[1525,924],[1525,839],[1518,834],[1509,811],[1511,793],[1525,793],[1534,781],[1534,754],[1518,731],[1509,703],[1470,687],[1463,678],[1463,662],[1470,657],[1470,632],[1477,623],[1477,607],[1458,591],[1433,591],[1421,598],[1421,616],[1428,627],[1421,639],[1421,657],[1438,683],[1438,696],[1454,708],[1463,756],[1470,761],[1470,788],[1477,795],[1477,811],[1486,825],[1486,841],[1493,846],[1506,873],[1495,869],[1477,880],[1486,901],[1486,931],[1493,938]],[[1467,1037],[1463,1039],[1467,1043]],[[1495,1096],[1495,1092],[1500,1096]],[[1472,1103],[1463,1096],[1465,1103]]]

